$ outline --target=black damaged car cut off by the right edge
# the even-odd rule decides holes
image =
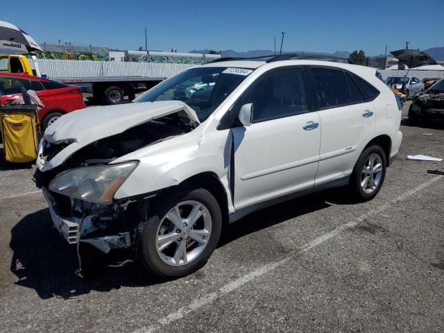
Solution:
[[[438,118],[444,119],[444,79],[414,96],[409,108],[409,121],[412,123]]]

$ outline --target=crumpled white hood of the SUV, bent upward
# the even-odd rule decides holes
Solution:
[[[199,123],[196,112],[181,101],[157,101],[110,105],[70,112],[46,128],[44,141],[73,141],[50,161],[37,158],[37,168],[46,171],[64,162],[78,149],[92,142],[122,133],[151,119],[184,110],[189,119]],[[39,155],[40,155],[39,151]]]

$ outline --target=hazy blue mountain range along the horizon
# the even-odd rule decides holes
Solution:
[[[427,50],[423,50],[429,56],[434,58],[436,61],[444,61],[444,46],[442,47],[432,47]],[[190,53],[209,53],[210,50],[193,50],[189,51]],[[221,56],[223,57],[232,57],[232,58],[254,58],[254,57],[262,57],[262,56],[270,56],[274,53],[271,50],[253,50],[246,52],[237,52],[233,50],[225,50],[221,51]],[[348,58],[350,56],[350,52],[348,51],[336,51],[334,53],[325,53],[325,52],[312,52],[312,51],[282,51],[282,53],[318,53],[323,54],[325,56],[336,56],[341,58]],[[389,55],[389,53],[388,53]],[[384,57],[384,55],[373,56],[372,58]]]

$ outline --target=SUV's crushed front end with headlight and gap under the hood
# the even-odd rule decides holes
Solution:
[[[78,142],[76,138],[54,142],[51,135],[42,139],[34,181],[43,191],[56,229],[76,245],[80,270],[96,250],[107,255],[106,262],[112,265],[135,259],[139,228],[158,191],[115,199],[116,191],[139,164],[138,160],[115,160],[194,129],[179,116],[171,114],[98,139],[67,155],[56,167],[51,162]]]

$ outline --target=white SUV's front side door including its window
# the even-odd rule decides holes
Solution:
[[[308,101],[304,72],[291,67],[258,78],[234,106],[253,103],[252,124],[232,128],[237,210],[314,186],[321,128]]]

